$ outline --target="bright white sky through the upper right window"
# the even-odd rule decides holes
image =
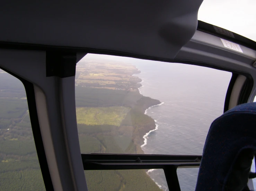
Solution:
[[[256,0],[204,0],[198,20],[256,41]]]

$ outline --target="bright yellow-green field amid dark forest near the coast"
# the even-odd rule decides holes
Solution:
[[[129,111],[130,108],[122,106],[98,108],[81,107],[77,108],[77,123],[119,126]]]

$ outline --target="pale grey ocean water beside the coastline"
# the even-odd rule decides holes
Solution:
[[[203,152],[209,127],[223,113],[224,100],[232,74],[226,71],[180,63],[133,63],[143,81],[143,96],[162,103],[145,113],[156,129],[144,135],[146,154],[198,154]],[[178,169],[182,191],[194,191],[198,168]],[[163,170],[148,174],[159,187],[168,190]]]

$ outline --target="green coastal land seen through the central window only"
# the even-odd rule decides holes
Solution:
[[[139,73],[129,64],[86,61],[77,65],[76,107],[81,153],[140,153],[155,129],[145,109],[160,103],[142,96]],[[161,190],[144,170],[86,171],[90,191]]]

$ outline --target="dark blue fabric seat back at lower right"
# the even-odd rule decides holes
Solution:
[[[256,152],[256,102],[245,103],[215,119],[209,129],[196,191],[248,190]]]

